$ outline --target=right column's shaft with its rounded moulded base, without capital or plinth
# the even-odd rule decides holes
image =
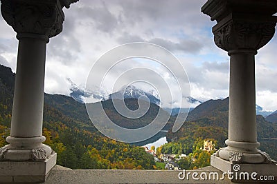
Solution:
[[[217,152],[220,158],[233,162],[263,163],[258,150],[255,103],[256,50],[238,49],[230,55],[229,139],[228,147]]]

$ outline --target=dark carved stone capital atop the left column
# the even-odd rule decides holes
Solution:
[[[1,0],[1,13],[18,34],[54,37],[62,32],[64,13],[59,1]]]

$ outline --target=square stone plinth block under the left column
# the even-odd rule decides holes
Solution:
[[[3,183],[40,183],[46,181],[55,166],[57,154],[51,154],[44,161],[1,161],[0,181]]]

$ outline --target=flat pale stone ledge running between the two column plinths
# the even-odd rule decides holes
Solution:
[[[54,167],[51,170],[45,183],[231,183],[228,179],[221,181],[195,181],[180,180],[179,172],[170,170],[63,170],[66,167]],[[221,174],[220,170],[215,167],[204,167],[199,170],[186,171],[187,172],[217,172]]]

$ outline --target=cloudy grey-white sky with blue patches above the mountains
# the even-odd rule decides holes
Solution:
[[[205,2],[80,0],[72,4],[64,10],[63,32],[47,45],[45,92],[69,95],[71,83],[67,78],[82,87],[102,54],[118,45],[141,41],[161,45],[175,54],[188,74],[193,98],[206,101],[229,96],[229,57],[213,43],[211,28],[215,22],[200,12]],[[0,63],[15,72],[16,34],[2,17],[0,28]],[[256,103],[265,110],[277,110],[276,48],[274,37],[256,56]],[[122,63],[121,69],[118,65],[110,77],[126,65],[148,67],[148,62],[133,60]],[[154,70],[170,77],[161,65],[154,65]]]

